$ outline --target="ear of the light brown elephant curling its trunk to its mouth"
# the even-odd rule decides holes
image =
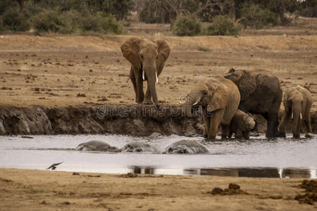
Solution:
[[[223,109],[228,104],[228,93],[223,87],[218,87],[213,91],[213,97],[207,106],[208,112],[213,112],[215,110]]]

